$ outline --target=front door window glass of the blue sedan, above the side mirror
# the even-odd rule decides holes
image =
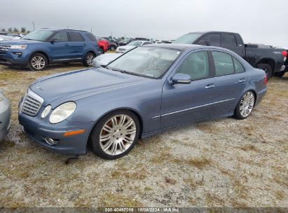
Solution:
[[[191,80],[207,78],[209,76],[209,59],[207,51],[191,53],[179,65],[176,73],[187,74]]]

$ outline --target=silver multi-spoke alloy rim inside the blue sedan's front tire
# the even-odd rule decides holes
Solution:
[[[103,125],[100,132],[100,146],[105,153],[116,156],[129,149],[135,136],[135,121],[128,115],[119,114]]]

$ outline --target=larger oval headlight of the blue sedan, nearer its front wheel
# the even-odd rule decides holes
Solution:
[[[60,123],[67,119],[71,114],[74,113],[76,109],[76,104],[74,102],[67,102],[65,104],[56,107],[53,112],[50,114],[49,122],[50,123]]]

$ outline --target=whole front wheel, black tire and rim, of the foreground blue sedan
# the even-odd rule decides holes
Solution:
[[[93,128],[89,138],[90,149],[100,158],[107,160],[121,158],[137,143],[139,128],[139,120],[131,111],[111,112],[101,118]]]

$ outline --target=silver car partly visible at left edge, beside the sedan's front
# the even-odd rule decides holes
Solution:
[[[4,140],[11,126],[11,105],[0,89],[0,142]]]

